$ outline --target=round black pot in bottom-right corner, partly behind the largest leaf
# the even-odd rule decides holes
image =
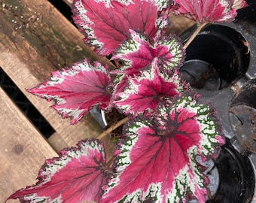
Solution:
[[[251,201],[254,195],[254,168],[248,156],[238,153],[231,144],[222,147],[214,167],[207,175],[209,180],[215,180],[215,184],[218,184],[215,192],[209,194],[207,203]]]

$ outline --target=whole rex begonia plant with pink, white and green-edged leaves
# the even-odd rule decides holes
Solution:
[[[84,59],[28,91],[55,102],[52,107],[72,124],[93,107],[116,108],[127,116],[123,136],[111,164],[102,141],[80,141],[47,159],[38,183],[8,199],[205,202],[209,180],[202,162],[218,156],[224,138],[215,111],[178,68],[203,26],[230,22],[245,6],[244,0],[75,0],[74,20],[84,41],[117,67]],[[163,35],[171,12],[197,21],[196,34],[184,46],[178,36]]]

